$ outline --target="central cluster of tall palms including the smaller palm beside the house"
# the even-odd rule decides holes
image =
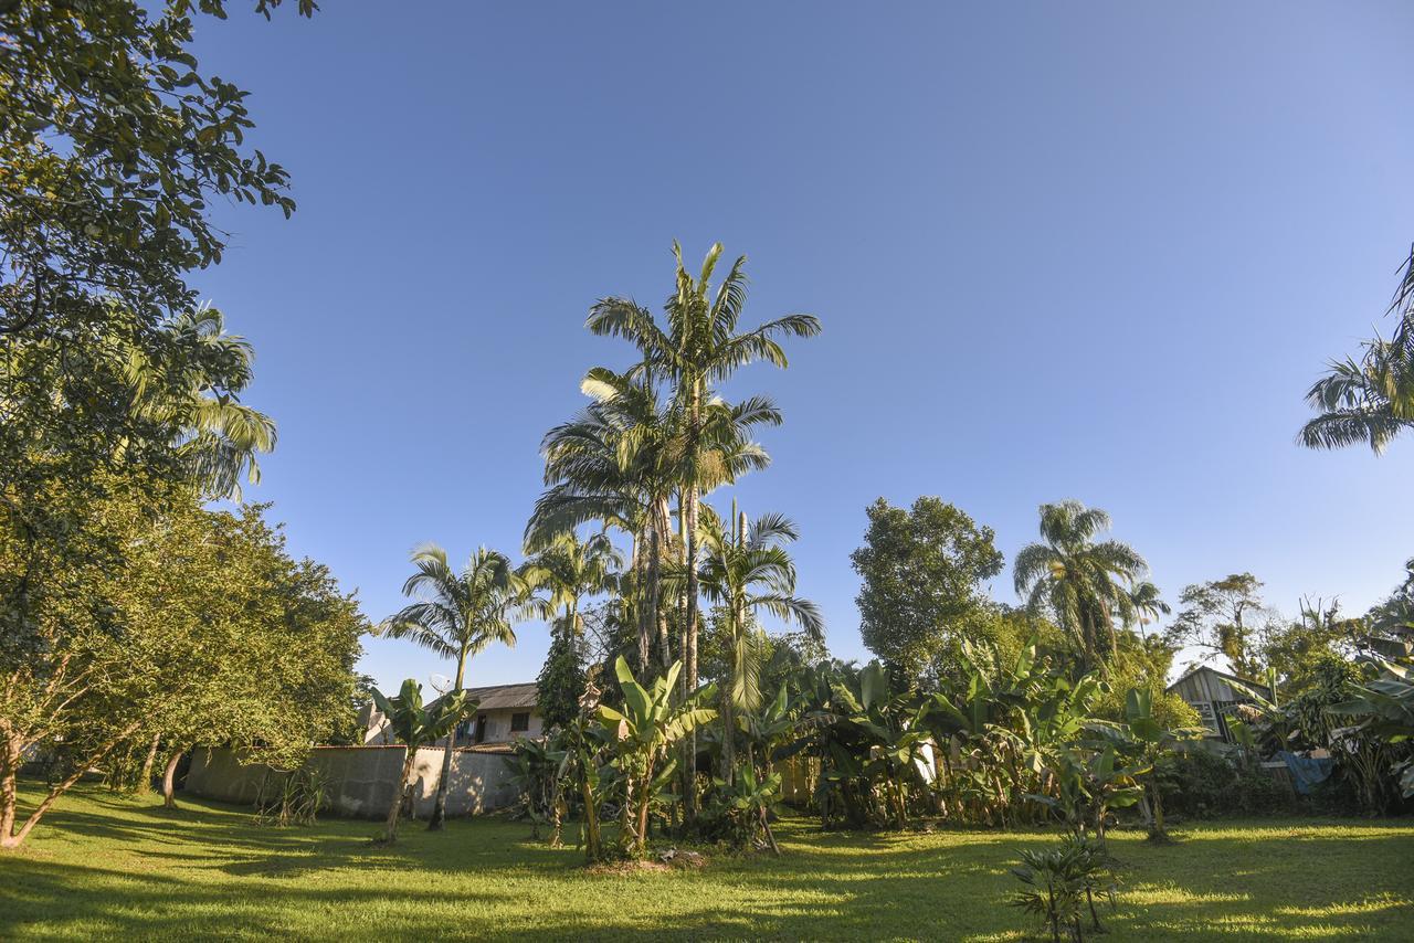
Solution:
[[[823,633],[819,611],[795,594],[795,566],[785,549],[797,536],[795,526],[779,515],[751,523],[735,508],[724,516],[704,500],[769,464],[752,433],[782,421],[769,399],[730,403],[718,386],[752,362],[786,366],[781,338],[812,336],[819,321],[792,314],[742,329],[745,257],[713,286],[720,245],[696,276],[684,267],[676,243],[673,253],[674,290],[662,318],[617,297],[598,301],[590,312],[590,331],[629,342],[631,363],[618,370],[590,369],[581,383],[588,406],[546,435],[546,491],[526,527],[526,563],[515,567],[505,554],[482,550],[455,573],[440,549],[423,549],[413,557],[417,573],[404,587],[417,601],[382,623],[386,635],[409,638],[452,660],[452,690],[461,690],[467,660],[492,642],[512,645],[516,619],[546,618],[557,638],[575,639],[584,632],[581,601],[601,598],[600,612],[624,640],[612,646],[607,662],[628,656],[618,670],[624,708],[585,697],[583,714],[612,727],[618,741],[633,739],[632,734],[618,737],[619,727],[645,725],[643,742],[652,746],[609,751],[618,772],[604,778],[605,787],[614,782],[625,792],[624,806],[635,807],[645,823],[636,827],[639,848],[650,804],[649,773],[642,771],[653,771],[652,782],[677,771],[684,820],[694,820],[699,810],[700,722],[677,722],[672,737],[663,735],[663,725],[672,725],[670,718],[689,704],[701,705],[689,711],[701,722],[720,711],[723,724],[713,738],[723,756],[720,780],[734,785],[735,752],[747,745],[738,715],[756,711],[762,700],[758,618],[795,621],[814,638]],[[614,533],[624,537],[626,554],[615,547]],[[720,632],[728,652],[728,677],[720,690],[704,687],[699,677],[704,626]],[[631,690],[662,693],[662,715],[655,714],[656,701],[645,707]],[[679,741],[684,741],[680,752],[669,758]],[[595,749],[602,752],[602,745]],[[445,756],[433,827],[444,816],[451,752]],[[597,776],[598,765],[592,766]]]

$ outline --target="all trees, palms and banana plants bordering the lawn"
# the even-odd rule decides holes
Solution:
[[[269,17],[280,0],[252,6]],[[4,848],[93,771],[141,790],[163,769],[171,807],[192,746],[297,769],[354,732],[370,626],[327,568],[290,557],[264,506],[240,503],[276,424],[240,400],[250,345],[191,287],[225,249],[212,201],[294,209],[284,170],[246,143],[245,93],[189,52],[202,14],[225,4],[0,4]],[[1059,844],[1025,850],[1012,899],[1059,940],[1100,929],[1120,871],[1167,860],[1175,813],[1290,809],[1264,758],[1329,761],[1305,810],[1408,809],[1414,561],[1363,616],[1307,599],[1287,619],[1254,574],[1215,575],[1151,635],[1171,608],[1104,510],[1039,508],[1039,539],[1011,561],[1011,607],[986,591],[1007,567],[986,523],[937,496],[880,499],[851,556],[877,659],[831,659],[797,592],[797,526],[724,498],[769,468],[756,435],[785,421],[768,396],[728,400],[728,382],[786,368],[822,324],[796,312],[748,327],[745,256],[724,273],[720,245],[696,270],[676,243],[673,257],[660,311],[617,295],[590,308],[617,363],[587,369],[587,404],[544,435],[526,558],[484,547],[458,570],[436,544],[413,554],[409,602],[376,631],[454,673],[430,703],[414,681],[369,691],[409,746],[404,785],[416,748],[455,745],[475,710],[471,659],[542,619],[550,728],[519,745],[516,775],[537,831],[559,847],[577,827],[591,865],[652,861],[662,840],[740,853],[734,867],[759,877],[752,851],[865,854],[824,830],[899,833],[896,847],[922,841],[926,857],[926,840],[902,834],[1060,824]],[[1389,339],[1309,390],[1304,444],[1379,452],[1414,423],[1414,254],[1390,312]],[[1193,710],[1165,691],[1192,648],[1251,686],[1223,717],[1236,746],[1202,745]],[[451,762],[448,749],[434,830]],[[21,799],[25,765],[45,785]],[[264,817],[311,821],[320,785],[286,785]],[[386,854],[400,809],[395,796]],[[1154,840],[1128,850],[1137,865],[1107,844],[1124,816]]]

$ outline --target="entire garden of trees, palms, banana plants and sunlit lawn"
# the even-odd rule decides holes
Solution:
[[[1292,616],[1226,566],[1165,595],[1077,499],[1028,500],[1008,560],[942,496],[864,506],[880,481],[827,632],[800,508],[747,506],[806,500],[752,488],[786,410],[751,385],[790,390],[826,324],[748,312],[721,243],[672,242],[656,305],[615,274],[583,298],[518,546],[397,550],[370,616],[243,492],[279,437],[197,290],[209,205],[296,204],[192,52],[226,6],[0,3],[0,937],[1410,936],[1414,560]],[[1307,390],[1301,448],[1408,438],[1401,259],[1390,336]],[[518,633],[546,656],[536,732],[496,751],[516,800],[448,814],[472,669]],[[373,640],[448,674],[375,679]],[[322,746],[402,751],[366,819],[331,814]],[[256,800],[184,793],[201,749],[266,771]]]

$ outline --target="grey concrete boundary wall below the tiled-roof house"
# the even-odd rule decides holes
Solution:
[[[341,816],[382,819],[397,795],[407,748],[396,746],[315,746],[304,762],[329,786],[327,807]],[[520,799],[510,782],[508,754],[458,749],[452,752],[447,786],[447,814],[468,816],[505,809]],[[424,746],[413,763],[413,810],[419,817],[431,814],[441,778],[443,748]],[[243,806],[253,806],[262,786],[273,789],[286,773],[263,763],[242,763],[226,748],[198,748],[187,773],[187,792]]]

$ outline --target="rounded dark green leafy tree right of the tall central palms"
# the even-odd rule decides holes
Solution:
[[[940,498],[911,509],[880,498],[864,546],[850,554],[864,584],[855,602],[864,645],[916,677],[987,607],[981,584],[1001,573],[991,527]]]

